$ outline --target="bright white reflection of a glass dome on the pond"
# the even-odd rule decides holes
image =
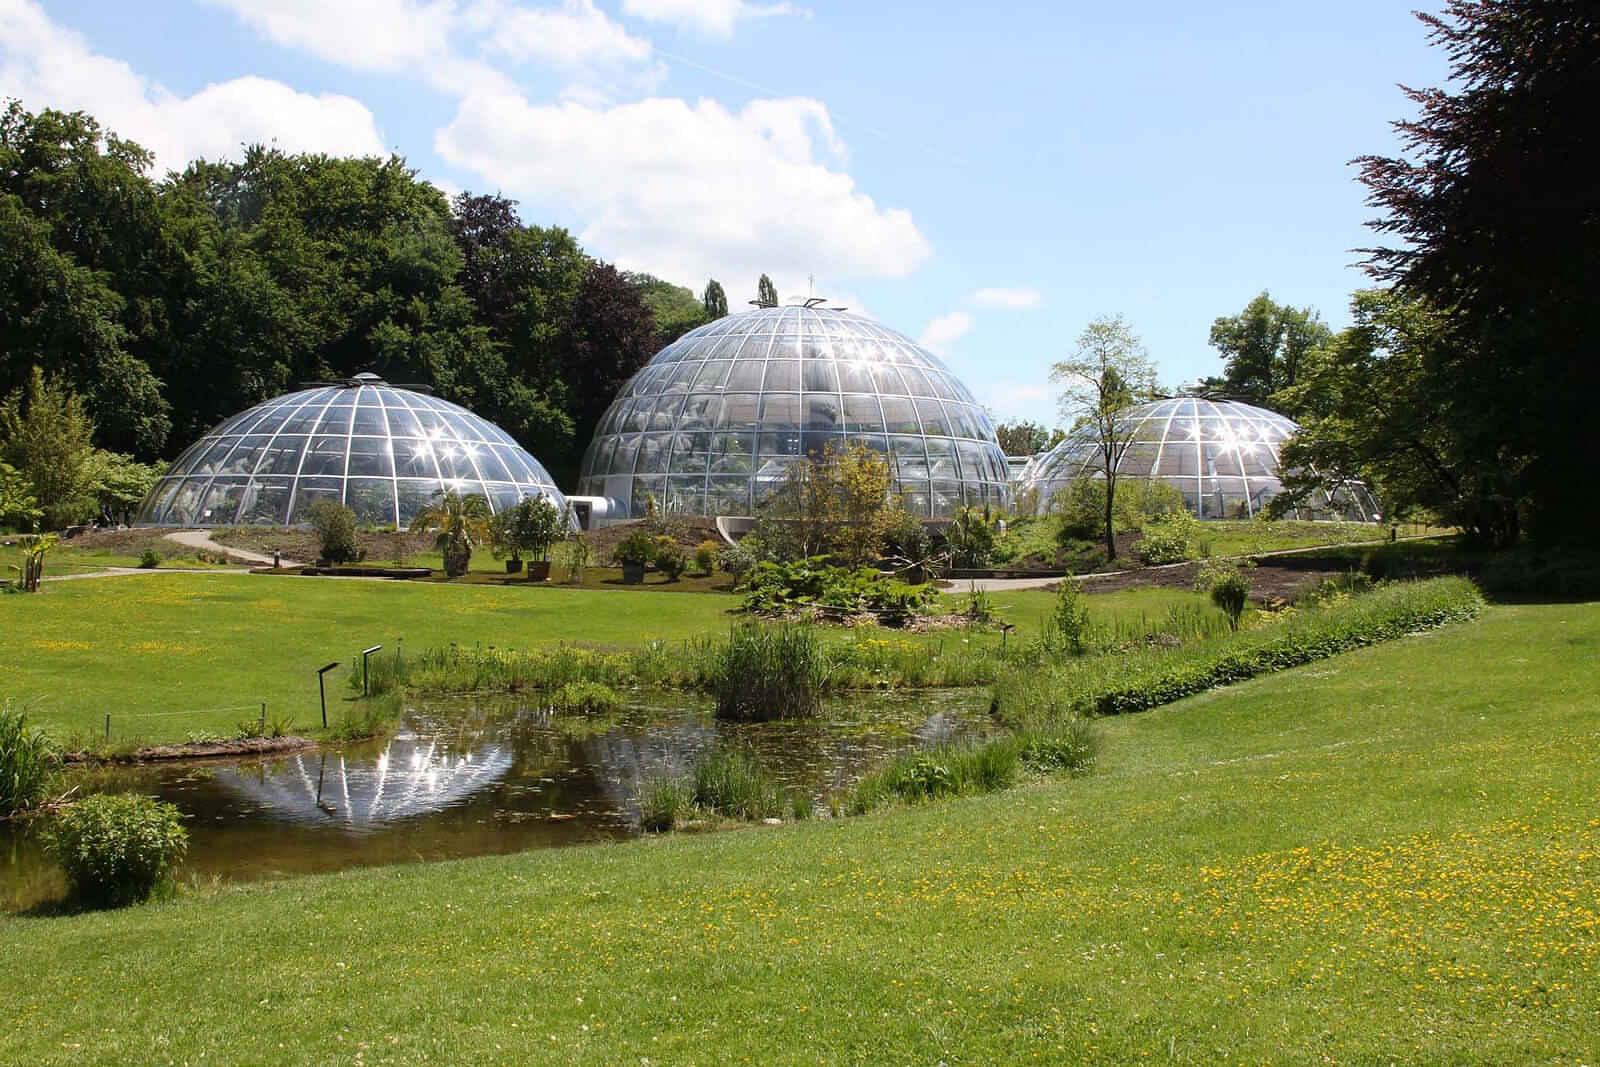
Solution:
[[[224,771],[218,781],[291,822],[379,825],[442,811],[499,781],[512,753],[499,745],[461,752],[395,737],[376,757],[302,753],[270,769]]]

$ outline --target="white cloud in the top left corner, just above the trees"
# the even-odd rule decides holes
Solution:
[[[349,96],[299,93],[242,77],[176,96],[128,64],[93,53],[32,0],[0,0],[0,96],[29,110],[86,110],[155,154],[157,173],[194,158],[237,157],[240,144],[286,152],[382,155],[373,114]]]

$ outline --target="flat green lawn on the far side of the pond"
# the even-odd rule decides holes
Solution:
[[[957,597],[957,601],[962,598]],[[997,593],[995,605],[1024,637],[1048,614],[1051,595]],[[1093,600],[1106,619],[1162,616],[1181,590],[1134,590]],[[640,646],[723,632],[739,616],[726,593],[654,587],[453,585],[253,574],[139,574],[46,584],[38,595],[0,597],[11,635],[0,661],[0,693],[58,737],[184,741],[229,733],[254,718],[290,717],[301,731],[320,723],[317,667],[347,664],[362,648],[574,641]],[[854,632],[829,630],[832,640]],[[998,633],[885,632],[936,645],[997,645]],[[330,721],[347,696],[346,670],[328,675]]]

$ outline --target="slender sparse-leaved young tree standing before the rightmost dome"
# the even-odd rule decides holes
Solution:
[[[1117,467],[1138,429],[1130,413],[1155,395],[1155,363],[1122,315],[1109,315],[1083,328],[1077,349],[1051,368],[1050,379],[1062,384],[1062,418],[1094,429],[1106,480],[1106,558],[1115,560]]]

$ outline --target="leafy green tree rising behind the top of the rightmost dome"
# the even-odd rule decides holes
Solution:
[[[1299,381],[1306,354],[1331,338],[1315,310],[1277,304],[1262,291],[1238,315],[1211,323],[1211,347],[1226,366],[1222,378],[1208,384],[1232,397],[1270,403],[1274,394]]]

